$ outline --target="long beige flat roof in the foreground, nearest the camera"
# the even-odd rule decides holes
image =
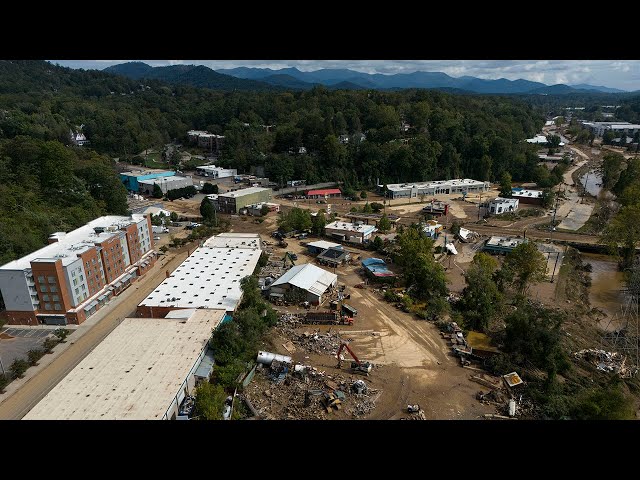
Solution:
[[[224,315],[124,319],[24,419],[161,420]]]

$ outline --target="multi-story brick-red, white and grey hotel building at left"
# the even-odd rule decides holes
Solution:
[[[82,323],[155,261],[151,217],[100,217],[0,267],[10,324]]]

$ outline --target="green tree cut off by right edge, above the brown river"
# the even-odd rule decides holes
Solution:
[[[622,207],[605,227],[601,241],[621,259],[623,268],[630,267],[640,241],[640,204]]]

